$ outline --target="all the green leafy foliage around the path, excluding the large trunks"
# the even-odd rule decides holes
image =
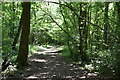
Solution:
[[[80,4],[84,4],[83,10],[86,10],[86,29],[81,28],[79,31]],[[60,45],[63,49],[61,56],[67,56],[77,63],[81,61],[79,46],[89,56],[94,68],[89,68],[90,72],[98,71],[101,75],[111,76],[116,73],[116,50],[119,49],[119,14],[115,3],[109,3],[108,12],[105,11],[105,3],[47,3],[47,2],[32,2],[31,3],[31,32],[30,32],[30,47],[29,52],[34,53],[40,51],[40,46],[43,45]],[[18,53],[17,50],[12,51],[12,44],[17,33],[19,21],[22,13],[21,2],[3,3],[2,4],[2,58],[8,57],[11,62],[14,62]],[[105,33],[105,13],[108,13],[107,33]],[[117,15],[115,15],[117,14]],[[92,25],[92,24],[94,25]],[[97,26],[96,26],[97,25]],[[105,36],[107,35],[107,44]],[[111,36],[113,34],[114,36]],[[86,39],[86,43],[81,43],[81,38]],[[18,40],[19,41],[19,40]],[[36,46],[37,45],[37,46]],[[105,49],[104,47],[108,47]],[[85,47],[84,47],[85,48]],[[32,54],[30,54],[32,56]],[[119,61],[119,60],[118,60]],[[86,68],[88,68],[87,66]]]

